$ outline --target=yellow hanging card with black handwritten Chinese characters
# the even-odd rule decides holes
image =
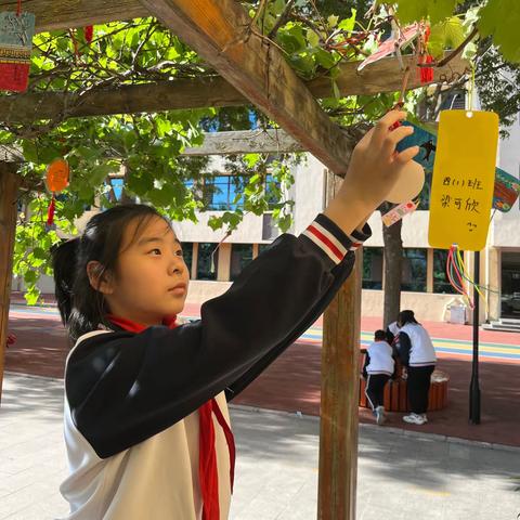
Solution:
[[[431,247],[480,251],[485,246],[495,181],[498,116],[443,110],[431,185]]]

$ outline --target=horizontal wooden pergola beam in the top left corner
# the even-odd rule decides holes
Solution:
[[[16,0],[0,0],[0,11],[16,11]],[[24,0],[22,9],[35,14],[37,32],[150,16],[138,0]]]

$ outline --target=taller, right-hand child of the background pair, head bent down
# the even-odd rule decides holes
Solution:
[[[435,369],[437,356],[431,338],[415,320],[414,311],[401,311],[398,317],[399,356],[406,367],[408,401],[412,413],[403,420],[413,425],[428,422],[428,395],[430,379]]]

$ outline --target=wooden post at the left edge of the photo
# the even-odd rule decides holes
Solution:
[[[16,231],[16,197],[21,178],[16,165],[0,162],[0,402],[8,342],[9,302]]]

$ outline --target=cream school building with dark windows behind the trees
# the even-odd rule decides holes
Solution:
[[[509,129],[510,136],[500,140],[498,165],[507,172],[520,173],[520,118]],[[220,164],[220,159],[214,159]],[[214,169],[214,164],[212,165]],[[174,227],[183,242],[185,258],[191,270],[190,301],[203,302],[222,294],[245,265],[256,258],[278,235],[272,217],[246,214],[238,229],[221,243],[224,231],[212,231],[207,225],[212,214],[232,210],[235,183],[225,171],[214,180],[210,211],[199,213],[199,222],[178,222]],[[295,167],[296,182],[286,194],[295,202],[291,233],[300,233],[322,211],[326,194],[326,169],[314,157]],[[83,217],[86,221],[90,214]],[[460,298],[445,275],[446,250],[428,245],[429,211],[418,210],[403,221],[402,308],[413,309],[419,320],[444,321],[450,318],[452,304]],[[372,216],[369,224],[373,237],[365,243],[363,256],[363,315],[382,315],[382,231],[379,212]],[[490,224],[487,245],[481,252],[481,284],[485,285],[487,304],[481,304],[480,323],[492,326],[520,324],[520,208],[517,202],[512,209],[503,213],[495,211]],[[220,244],[220,245],[219,245]],[[472,253],[465,256],[472,272]],[[13,281],[13,288],[21,283]],[[41,289],[53,291],[52,281],[43,278]],[[470,312],[467,312],[471,321]]]

